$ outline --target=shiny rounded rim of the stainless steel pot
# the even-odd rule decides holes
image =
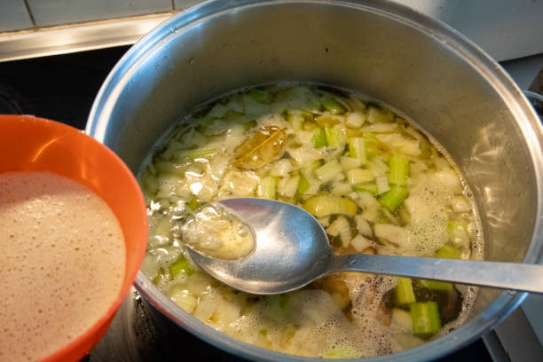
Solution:
[[[221,16],[224,12],[240,11],[256,6],[280,6],[284,4],[311,4],[320,6],[344,6],[360,11],[373,12],[379,16],[388,17],[415,28],[425,36],[429,36],[441,43],[445,43],[450,51],[456,52],[463,59],[466,59],[470,67],[474,67],[484,79],[492,85],[494,90],[508,104],[511,113],[515,115],[517,124],[523,133],[527,147],[533,161],[533,168],[536,177],[538,201],[536,211],[536,222],[531,237],[530,248],[523,258],[525,264],[543,264],[543,129],[539,123],[539,117],[535,114],[523,92],[518,89],[515,82],[500,67],[500,65],[488,56],[475,43],[472,43],[464,35],[449,27],[439,20],[434,20],[419,12],[401,5],[378,0],[360,2],[356,0],[227,0],[209,1],[200,4],[188,11],[181,12],[170,20],[165,21],[149,34],[144,36],[119,60],[111,73],[107,76],[105,83],[98,91],[89,120],[86,132],[98,141],[104,142],[106,125],[111,114],[116,95],[127,83],[128,78],[138,68],[138,65],[158,51],[163,43],[167,43],[173,37],[183,34],[189,28],[197,26],[203,21],[209,21]],[[150,282],[149,279],[138,271],[135,286],[138,291],[146,297],[146,300],[161,311],[162,314],[174,321],[178,326],[185,328],[202,340],[209,342],[219,349],[234,353],[243,358],[276,361],[315,361],[319,358],[303,358],[294,355],[265,350],[255,345],[236,340],[226,334],[216,331],[193,318],[177,304],[173,303],[166,295]],[[421,361],[440,358],[457,350],[460,347],[473,342],[481,334],[489,331],[492,327],[508,317],[509,313],[523,302],[528,294],[517,292],[503,292],[484,311],[476,315],[468,323],[462,325],[453,332],[438,338],[435,341],[427,342],[420,347],[394,353],[391,355],[366,358],[365,361]],[[354,359],[349,359],[354,360]]]

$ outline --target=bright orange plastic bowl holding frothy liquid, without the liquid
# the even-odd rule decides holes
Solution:
[[[89,187],[114,211],[126,243],[121,293],[85,333],[43,361],[76,361],[106,333],[146,253],[146,203],[138,181],[109,148],[82,131],[29,115],[0,115],[0,173],[51,171]]]

